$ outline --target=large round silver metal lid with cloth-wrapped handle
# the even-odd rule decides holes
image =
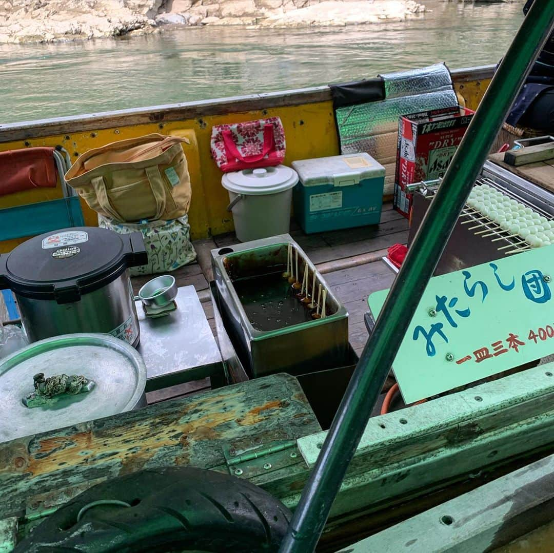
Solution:
[[[27,400],[38,373],[83,375],[94,384],[75,395]],[[0,361],[0,442],[130,411],[145,386],[142,357],[117,338],[63,334],[34,342]]]

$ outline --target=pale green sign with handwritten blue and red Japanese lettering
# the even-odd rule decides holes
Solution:
[[[388,290],[371,294],[377,316]],[[554,245],[433,277],[394,359],[408,404],[554,353]]]

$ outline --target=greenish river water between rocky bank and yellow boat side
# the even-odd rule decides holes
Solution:
[[[167,28],[89,42],[0,45],[0,124],[345,82],[446,61],[496,63],[523,1],[419,0],[430,13],[341,28]]]

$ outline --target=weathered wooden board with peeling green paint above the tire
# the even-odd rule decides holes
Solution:
[[[0,443],[0,519],[48,510],[83,485],[150,467],[226,471],[224,447],[319,430],[298,381],[279,374]],[[304,466],[300,456],[297,463]]]

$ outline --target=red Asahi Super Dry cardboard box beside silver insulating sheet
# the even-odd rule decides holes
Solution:
[[[474,113],[452,106],[399,118],[393,201],[399,213],[409,218],[412,209],[407,184],[444,176]]]

